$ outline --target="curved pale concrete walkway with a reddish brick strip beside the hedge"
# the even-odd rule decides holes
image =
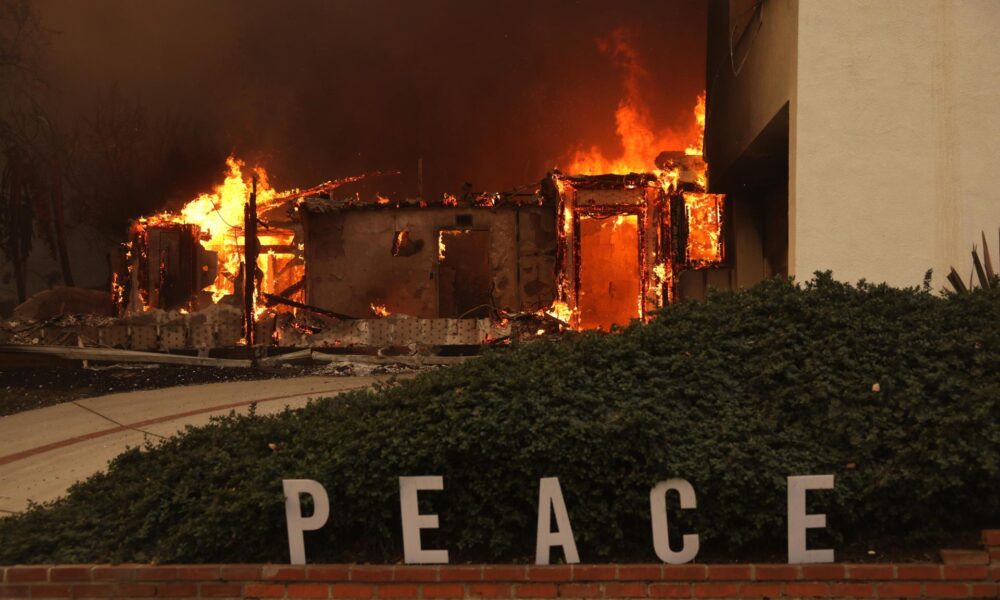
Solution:
[[[110,394],[0,417],[0,513],[23,511],[29,500],[62,496],[127,447],[142,445],[149,436],[138,429],[169,436],[187,425],[204,425],[212,416],[245,413],[252,402],[257,402],[258,414],[272,414],[379,379],[299,377],[192,385]]]

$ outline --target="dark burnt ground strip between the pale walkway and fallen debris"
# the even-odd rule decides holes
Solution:
[[[101,370],[82,368],[13,368],[0,369],[0,417],[25,410],[138,390],[220,383],[258,381],[306,375],[356,375],[395,372],[391,367],[368,368],[357,373],[350,366],[288,365],[269,368],[220,368],[159,365],[111,367]]]

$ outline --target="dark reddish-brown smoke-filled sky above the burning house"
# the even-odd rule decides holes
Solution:
[[[37,0],[55,30],[66,114],[117,86],[234,151],[280,188],[375,169],[428,196],[509,189],[579,145],[617,150],[621,73],[598,40],[625,28],[660,127],[705,81],[700,1]],[[180,173],[178,177],[183,178]],[[395,189],[392,189],[395,188]]]

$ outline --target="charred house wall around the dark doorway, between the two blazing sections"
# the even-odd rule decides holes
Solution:
[[[555,297],[552,207],[356,209],[306,212],[303,221],[307,302],[316,306],[358,317],[370,316],[372,304],[421,318],[459,316],[442,314],[442,285],[451,285],[441,281],[442,231],[488,240],[483,293],[494,308],[537,310]]]

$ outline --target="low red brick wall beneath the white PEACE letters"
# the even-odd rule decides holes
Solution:
[[[0,567],[0,598],[997,598],[1000,530],[941,563],[53,565]]]

